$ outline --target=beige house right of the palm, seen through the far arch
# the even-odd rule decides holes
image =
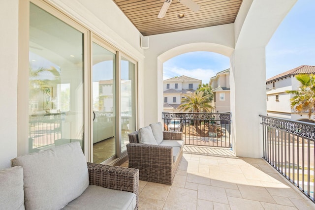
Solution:
[[[230,69],[220,71],[210,78],[215,112],[230,112]]]

